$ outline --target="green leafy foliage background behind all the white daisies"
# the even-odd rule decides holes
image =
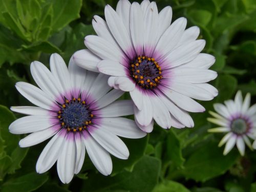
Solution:
[[[173,20],[185,16],[188,27],[201,29],[204,52],[215,55],[211,68],[219,76],[211,83],[219,90],[212,101],[202,102],[206,112],[192,114],[193,129],[170,129],[155,125],[145,138],[123,139],[129,160],[113,158],[113,173],[102,176],[88,156],[70,184],[62,184],[55,165],[45,174],[35,164],[46,142],[19,148],[25,135],[11,135],[9,124],[19,114],[11,105],[29,105],[15,90],[17,81],[33,82],[29,65],[39,60],[49,65],[57,52],[68,62],[84,49],[83,38],[94,34],[93,15],[103,16],[105,4],[117,0],[0,0],[0,191],[154,191],[154,192],[253,192],[256,191],[256,152],[236,148],[223,156],[217,144],[222,134],[209,134],[206,121],[212,104],[233,98],[237,90],[250,92],[256,100],[256,1],[254,0],[159,0],[159,10],[172,6]],[[125,98],[128,95],[124,96]]]

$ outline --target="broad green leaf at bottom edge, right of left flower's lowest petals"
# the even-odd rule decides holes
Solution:
[[[83,180],[82,188],[88,192],[152,191],[158,182],[160,166],[161,162],[157,158],[144,156],[134,165],[132,172],[124,170],[113,177],[90,174],[87,180]]]

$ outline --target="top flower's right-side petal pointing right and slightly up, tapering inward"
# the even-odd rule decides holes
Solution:
[[[180,68],[196,68],[196,69],[209,69],[215,63],[215,57],[206,53],[199,53],[197,57],[190,62],[180,66]]]

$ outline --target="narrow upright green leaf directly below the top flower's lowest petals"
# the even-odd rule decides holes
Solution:
[[[175,132],[170,130],[166,139],[166,157],[178,167],[183,166],[185,162],[185,159],[182,157],[181,150],[180,140]]]

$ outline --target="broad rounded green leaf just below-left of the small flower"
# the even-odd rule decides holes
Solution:
[[[218,142],[209,141],[186,159],[183,175],[202,182],[223,175],[236,162],[238,153],[234,150],[226,156],[222,153]]]

